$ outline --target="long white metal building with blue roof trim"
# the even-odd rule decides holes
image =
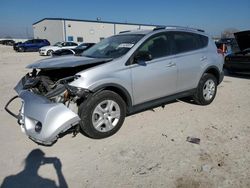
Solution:
[[[153,29],[157,25],[44,18],[33,24],[34,38],[47,39],[51,44],[59,41],[99,42],[103,38],[126,30]]]

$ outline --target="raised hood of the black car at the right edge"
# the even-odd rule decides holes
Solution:
[[[250,30],[234,33],[234,36],[241,51],[250,48]]]

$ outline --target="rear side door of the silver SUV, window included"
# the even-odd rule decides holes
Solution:
[[[190,32],[172,32],[178,69],[177,92],[197,87],[200,71],[207,64],[208,38]]]

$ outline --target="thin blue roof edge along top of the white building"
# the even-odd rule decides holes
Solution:
[[[124,24],[124,25],[142,25],[142,26],[154,26],[160,27],[161,25],[153,24],[143,24],[143,23],[127,23],[127,22],[111,22],[111,21],[101,21],[101,20],[81,20],[81,19],[69,19],[69,18],[43,18],[32,25],[36,25],[44,20],[62,20],[62,21],[77,21],[77,22],[92,22],[92,23],[108,23],[108,24]]]

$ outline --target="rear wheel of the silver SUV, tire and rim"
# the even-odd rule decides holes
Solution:
[[[199,105],[208,105],[213,102],[217,92],[217,80],[214,75],[205,73],[196,89],[194,100]]]

